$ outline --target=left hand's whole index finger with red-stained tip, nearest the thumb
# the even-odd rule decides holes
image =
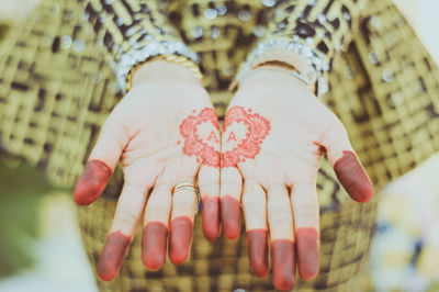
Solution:
[[[121,268],[144,211],[146,191],[139,186],[124,184],[98,262],[98,274],[103,281],[112,280]]]

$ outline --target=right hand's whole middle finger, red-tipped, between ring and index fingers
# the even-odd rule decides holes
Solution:
[[[290,290],[296,280],[290,196],[286,188],[281,184],[268,188],[267,194],[273,282],[278,290]]]

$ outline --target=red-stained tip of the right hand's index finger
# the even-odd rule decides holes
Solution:
[[[318,273],[318,233],[313,227],[297,228],[299,273],[304,280],[311,280]]]

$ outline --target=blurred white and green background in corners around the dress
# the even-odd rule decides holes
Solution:
[[[395,2],[439,61],[439,1]],[[0,42],[7,27],[23,20],[37,3],[0,2]],[[97,291],[71,198],[49,189],[44,177],[35,177],[34,172],[23,176],[32,171],[30,168],[11,171],[10,164],[0,160],[0,292]],[[439,291],[437,173],[439,155],[381,194],[368,274],[371,291]],[[20,186],[35,187],[29,190]],[[18,198],[13,203],[5,200],[11,193]]]

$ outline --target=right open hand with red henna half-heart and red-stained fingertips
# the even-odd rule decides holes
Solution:
[[[248,75],[224,121],[222,224],[236,238],[243,203],[251,270],[268,274],[270,237],[279,290],[294,285],[296,263],[305,280],[318,273],[316,177],[324,154],[351,198],[369,201],[372,183],[336,115],[288,70],[261,67]]]

